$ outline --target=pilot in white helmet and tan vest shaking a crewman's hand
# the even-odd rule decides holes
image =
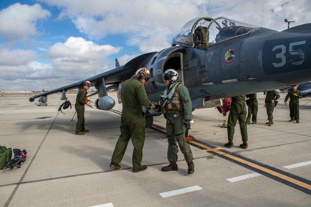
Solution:
[[[163,96],[156,105],[157,111],[162,111],[166,118],[166,134],[168,139],[167,159],[170,164],[162,168],[162,171],[178,170],[177,152],[178,142],[180,151],[188,163],[188,174],[194,172],[193,155],[185,138],[186,129],[191,128],[192,102],[188,89],[176,82],[179,78],[176,70],[168,69],[163,73],[164,82],[167,85]],[[156,110],[155,109],[155,110]]]

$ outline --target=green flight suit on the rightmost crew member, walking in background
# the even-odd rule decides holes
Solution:
[[[294,93],[296,93],[297,96],[294,96],[293,95]],[[290,119],[297,121],[297,120],[299,120],[299,98],[302,98],[301,91],[291,90],[290,92],[287,93],[284,102],[287,101],[288,98],[290,98],[290,104],[289,104],[289,106],[290,106]]]

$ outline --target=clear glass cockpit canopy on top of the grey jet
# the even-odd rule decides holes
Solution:
[[[190,20],[174,36],[172,44],[186,47],[207,48],[225,39],[248,34],[258,26],[227,17],[211,19],[199,17]]]

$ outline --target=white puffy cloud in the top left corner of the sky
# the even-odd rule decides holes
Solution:
[[[24,42],[28,36],[37,35],[36,21],[50,15],[39,4],[12,4],[0,11],[0,36],[7,41]]]

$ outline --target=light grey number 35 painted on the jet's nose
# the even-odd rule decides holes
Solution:
[[[290,63],[292,65],[300,65],[304,61],[304,52],[302,52],[302,50],[300,50],[300,49],[293,50],[293,46],[303,45],[305,43],[306,43],[306,41],[290,43],[290,48],[289,48],[288,52],[290,52],[291,55],[299,55],[300,56],[300,61],[290,60]],[[284,54],[286,52],[286,47],[284,45],[277,45],[277,46],[273,47],[272,51],[275,51],[276,49],[281,49],[281,52],[276,54],[276,58],[281,58],[281,62],[280,63],[274,62],[274,63],[272,63],[272,65],[274,65],[274,67],[282,67],[286,63],[286,58],[284,56]]]

